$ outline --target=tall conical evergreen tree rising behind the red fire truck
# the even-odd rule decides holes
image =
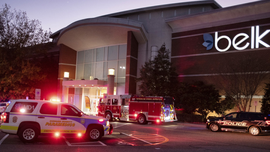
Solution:
[[[140,69],[139,90],[143,96],[173,96],[177,90],[178,76],[170,62],[169,50],[165,43],[159,48],[158,55],[150,59]]]

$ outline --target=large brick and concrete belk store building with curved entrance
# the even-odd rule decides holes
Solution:
[[[60,52],[57,96],[96,113],[98,99],[107,93],[109,68],[115,69],[114,94],[140,95],[135,81],[139,69],[163,43],[182,82],[218,86],[220,67],[246,57],[259,58],[258,69],[269,74],[269,8],[269,0],[227,8],[204,0],[75,21],[51,35]],[[253,98],[259,101],[262,95],[263,90]],[[84,96],[90,98],[91,110],[85,108]]]

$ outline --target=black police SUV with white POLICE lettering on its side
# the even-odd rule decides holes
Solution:
[[[223,117],[208,118],[206,128],[213,132],[239,131],[259,135],[270,131],[270,115],[258,112],[233,112]]]

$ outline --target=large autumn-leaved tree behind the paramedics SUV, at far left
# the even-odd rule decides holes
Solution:
[[[0,14],[0,100],[33,99],[35,86],[46,77],[33,55],[48,50],[51,31],[43,31],[38,20],[11,11],[7,4]]]

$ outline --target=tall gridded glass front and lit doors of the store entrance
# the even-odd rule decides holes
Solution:
[[[114,94],[125,94],[127,45],[115,45],[80,51],[77,54],[76,80],[107,81],[108,68],[115,69],[115,82],[117,90]],[[100,96],[107,93],[107,88],[75,88],[74,105],[83,112],[94,114]],[[85,107],[85,97],[90,99],[91,110]]]

